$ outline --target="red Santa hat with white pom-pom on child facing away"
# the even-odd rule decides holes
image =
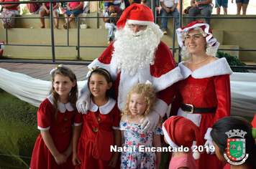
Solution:
[[[165,140],[172,148],[191,148],[193,141],[196,145],[204,145],[199,128],[191,121],[182,116],[172,116],[163,123]],[[200,157],[198,152],[193,153],[196,160]]]

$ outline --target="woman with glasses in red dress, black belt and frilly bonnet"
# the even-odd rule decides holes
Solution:
[[[182,56],[191,59],[178,65],[184,79],[178,82],[170,115],[186,117],[199,127],[206,152],[197,160],[198,168],[209,168],[209,164],[211,169],[223,168],[224,163],[211,149],[210,132],[214,122],[230,115],[232,70],[225,58],[215,57],[219,42],[213,37],[209,24],[193,21],[176,32]]]

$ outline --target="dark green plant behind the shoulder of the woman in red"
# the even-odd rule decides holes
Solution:
[[[217,52],[216,57],[221,58],[225,57],[227,59],[227,62],[229,63],[229,66],[242,66],[246,67],[247,64],[244,62],[239,61],[237,56],[231,56],[229,53],[226,52]],[[247,69],[232,69],[233,72],[249,72]]]

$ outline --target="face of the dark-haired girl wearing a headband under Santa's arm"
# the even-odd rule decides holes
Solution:
[[[93,97],[106,97],[106,90],[109,90],[112,83],[106,82],[106,78],[101,74],[91,74],[89,89]]]

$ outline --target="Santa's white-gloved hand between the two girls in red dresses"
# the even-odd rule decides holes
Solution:
[[[81,112],[82,114],[88,113],[88,110],[90,108],[90,93],[83,92],[81,93],[81,96],[78,98],[78,101],[76,102],[76,108],[78,112]]]

